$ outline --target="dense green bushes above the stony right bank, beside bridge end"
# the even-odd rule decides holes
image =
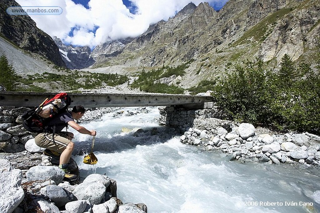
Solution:
[[[319,66],[296,66],[286,55],[278,73],[262,67],[247,62],[222,77],[212,88],[220,109],[240,122],[320,134]]]

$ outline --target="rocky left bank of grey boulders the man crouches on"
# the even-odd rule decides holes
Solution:
[[[119,108],[88,110],[83,121],[98,119],[102,114]],[[63,181],[64,172],[57,159],[46,156],[34,143],[34,134],[21,125],[25,107],[1,106],[0,110],[0,212],[26,213],[143,213],[143,203],[123,203],[117,198],[116,181],[101,174],[84,180]],[[79,176],[71,158],[69,168]]]

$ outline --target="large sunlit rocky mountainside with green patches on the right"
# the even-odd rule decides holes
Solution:
[[[179,80],[188,88],[246,59],[258,57],[276,67],[287,53],[308,62],[319,44],[319,18],[319,0],[230,0],[219,12],[207,3],[190,3],[168,21],[150,26],[119,54],[96,55],[92,67],[100,67],[99,72],[135,67],[132,72],[137,72],[195,59]]]

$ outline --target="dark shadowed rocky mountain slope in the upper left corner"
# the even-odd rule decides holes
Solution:
[[[14,0],[0,1],[0,35],[23,50],[37,53],[59,67],[66,67],[52,38],[37,28],[28,15],[8,15],[6,9],[9,6],[20,5]]]

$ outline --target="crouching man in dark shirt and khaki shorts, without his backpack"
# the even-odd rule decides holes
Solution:
[[[45,155],[56,158],[60,156],[59,168],[66,173],[64,180],[67,181],[74,180],[77,177],[68,171],[68,162],[75,144],[71,141],[73,139],[73,133],[64,132],[62,131],[63,128],[69,125],[82,134],[92,136],[97,134],[95,130],[87,130],[75,122],[75,120],[80,119],[84,115],[84,112],[85,109],[83,106],[74,106],[71,112],[63,112],[52,118],[46,126],[48,132],[39,133],[35,137],[36,145],[46,148],[44,150]]]

